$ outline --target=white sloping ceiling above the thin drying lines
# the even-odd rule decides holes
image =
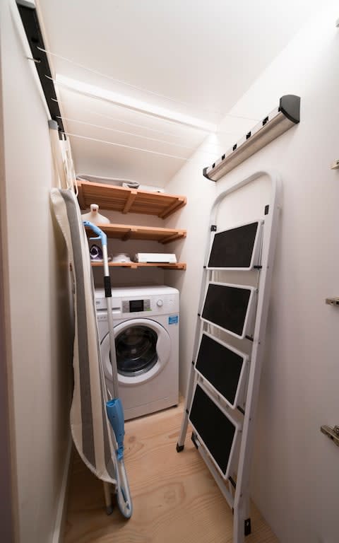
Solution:
[[[217,124],[319,6],[317,0],[37,4],[47,48],[59,55],[50,57],[56,74],[141,100],[148,109]],[[62,114],[76,119],[65,120],[67,132],[110,142],[70,136],[77,173],[163,186],[206,136],[65,86],[58,92]],[[214,158],[211,149],[206,165]]]

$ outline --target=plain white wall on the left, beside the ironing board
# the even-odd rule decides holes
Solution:
[[[0,4],[1,95],[20,543],[52,541],[69,443],[68,263],[52,220],[47,114],[11,14]],[[2,233],[4,235],[4,233]]]

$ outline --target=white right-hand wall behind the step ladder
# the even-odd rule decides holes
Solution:
[[[277,170],[283,179],[252,469],[254,500],[282,543],[338,541],[338,450],[319,431],[321,424],[338,424],[339,382],[339,314],[324,303],[338,296],[339,179],[329,164],[339,153],[339,11],[334,2],[326,6],[230,111],[260,119],[281,95],[293,93],[302,98],[300,124],[215,185],[219,193],[259,169]],[[244,133],[255,122],[227,117],[220,132],[236,132],[240,124]],[[220,135],[225,149],[234,143],[230,138]],[[186,277],[165,274],[168,284],[182,287],[184,387],[212,194],[193,162],[167,190],[188,197],[186,209],[172,219],[190,229],[182,249],[189,258]],[[266,195],[258,186],[256,203],[266,203]],[[249,213],[252,202],[251,196]]]

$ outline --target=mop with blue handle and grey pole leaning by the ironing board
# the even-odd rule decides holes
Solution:
[[[112,385],[104,387],[105,404],[107,411],[107,418],[111,424],[111,436],[116,454],[116,499],[117,505],[121,514],[125,518],[130,518],[132,514],[132,501],[129,492],[129,483],[127,481],[126,469],[124,466],[124,409],[119,398],[119,383],[118,383],[118,371],[117,371],[117,355],[115,352],[114,341],[114,325],[112,317],[112,288],[111,280],[109,277],[108,267],[108,255],[107,255],[107,235],[100,230],[95,224],[89,221],[83,221],[84,226],[91,228],[96,238],[90,238],[90,240],[101,240],[102,244],[102,259],[104,264],[104,286],[105,286],[105,298],[107,301],[107,320],[109,328],[109,344],[110,344],[110,359],[112,364]],[[102,382],[107,383],[105,380],[104,370],[100,365],[100,373],[102,375]],[[112,431],[113,430],[113,431]],[[111,511],[107,511],[110,513]]]

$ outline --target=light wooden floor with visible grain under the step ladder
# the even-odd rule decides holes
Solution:
[[[175,445],[182,407],[125,425],[133,515],[105,514],[102,483],[74,455],[65,543],[231,543],[232,511],[187,435]],[[258,511],[246,543],[278,543]]]

